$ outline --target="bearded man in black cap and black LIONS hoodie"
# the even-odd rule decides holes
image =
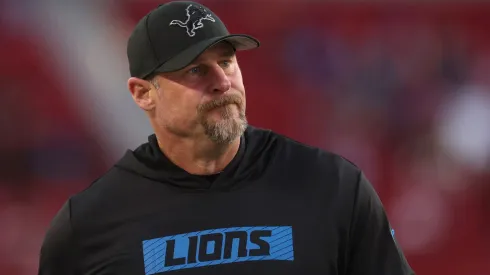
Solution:
[[[230,35],[193,2],[128,42],[128,88],[155,134],[54,218],[40,275],[413,274],[363,173],[247,125]]]

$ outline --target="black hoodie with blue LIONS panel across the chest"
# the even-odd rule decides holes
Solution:
[[[408,275],[383,206],[340,156],[248,127],[232,162],[191,175],[155,135],[53,219],[40,275]]]

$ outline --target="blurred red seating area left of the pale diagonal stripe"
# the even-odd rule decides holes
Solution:
[[[0,274],[35,274],[53,215],[105,168],[42,38],[0,29]]]

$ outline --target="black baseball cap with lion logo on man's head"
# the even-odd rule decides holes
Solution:
[[[185,68],[209,47],[227,41],[235,50],[259,47],[246,34],[230,34],[210,9],[191,1],[161,4],[143,17],[128,40],[127,55],[132,77]]]

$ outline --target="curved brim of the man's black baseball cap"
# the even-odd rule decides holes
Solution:
[[[166,73],[181,70],[191,64],[207,49],[222,41],[231,43],[237,51],[251,50],[260,46],[260,42],[257,39],[245,34],[230,34],[215,37],[208,40],[203,40],[185,49],[178,55],[166,61],[162,66],[158,67],[155,72]]]

